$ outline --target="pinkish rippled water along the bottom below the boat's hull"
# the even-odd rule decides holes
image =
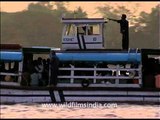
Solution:
[[[39,103],[2,104],[0,109],[1,118],[160,118],[160,105],[117,103],[110,107],[78,107]]]

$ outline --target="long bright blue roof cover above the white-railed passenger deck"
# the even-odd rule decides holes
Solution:
[[[57,52],[60,61],[86,61],[86,62],[108,62],[108,63],[140,63],[141,53],[104,53],[104,52]]]

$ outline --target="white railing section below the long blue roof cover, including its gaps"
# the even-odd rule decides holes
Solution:
[[[137,68],[121,68],[120,65],[116,65],[115,68],[98,68],[97,66],[82,68],[71,65],[70,67],[59,68],[61,73],[68,72],[68,74],[60,74],[58,79],[60,83],[68,83],[71,86],[79,84],[86,79],[89,80],[91,86],[104,86],[105,84],[106,87],[141,87],[141,67],[141,65],[138,65]],[[124,75],[122,74],[123,72],[128,74]]]

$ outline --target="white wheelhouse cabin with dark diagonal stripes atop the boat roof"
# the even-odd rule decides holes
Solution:
[[[104,18],[62,18],[62,49],[104,49]]]

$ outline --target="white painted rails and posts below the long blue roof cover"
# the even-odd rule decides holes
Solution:
[[[94,66],[93,68],[76,68],[74,65],[71,65],[71,67],[60,67],[59,70],[62,71],[62,73],[65,73],[65,71],[70,72],[69,75],[59,75],[58,79],[60,81],[64,81],[65,79],[70,80],[70,82],[68,84],[70,84],[69,86],[77,86],[75,83],[76,79],[87,79],[87,80],[93,80],[91,82],[90,86],[103,86],[102,84],[106,84],[106,81],[114,81],[113,83],[109,83],[107,84],[107,86],[109,87],[140,87],[142,84],[142,70],[141,70],[142,66],[139,65],[138,68],[121,68],[120,65],[116,65],[115,68],[97,68],[96,66]],[[75,72],[76,71],[83,71],[84,75],[76,75]],[[93,74],[85,74],[85,72],[87,71],[91,71]],[[101,71],[106,71],[106,75],[100,75],[98,74],[98,72]],[[114,71],[114,75],[111,74],[107,74],[107,72],[113,72]],[[135,76],[124,76],[121,75],[120,72],[122,71],[126,71],[126,72],[136,72]],[[128,80],[138,80],[137,83],[120,83],[120,81],[128,81]],[[101,83],[98,83],[98,81],[101,81]],[[61,82],[62,83],[62,82]],[[65,83],[67,84],[67,83]],[[78,85],[79,86],[79,85]],[[106,85],[105,85],[106,86]]]

